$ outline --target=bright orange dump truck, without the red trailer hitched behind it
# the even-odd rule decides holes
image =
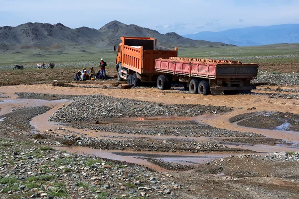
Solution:
[[[117,51],[116,71],[118,80],[127,80],[134,87],[142,82],[155,83],[161,74],[155,70],[155,60],[177,56],[177,47],[173,50],[159,47],[157,40],[150,37],[121,37],[122,43],[114,46]]]

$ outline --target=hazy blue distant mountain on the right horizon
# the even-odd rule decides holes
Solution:
[[[299,43],[299,24],[237,28],[220,32],[205,31],[183,36],[190,39],[223,42],[237,46]]]

